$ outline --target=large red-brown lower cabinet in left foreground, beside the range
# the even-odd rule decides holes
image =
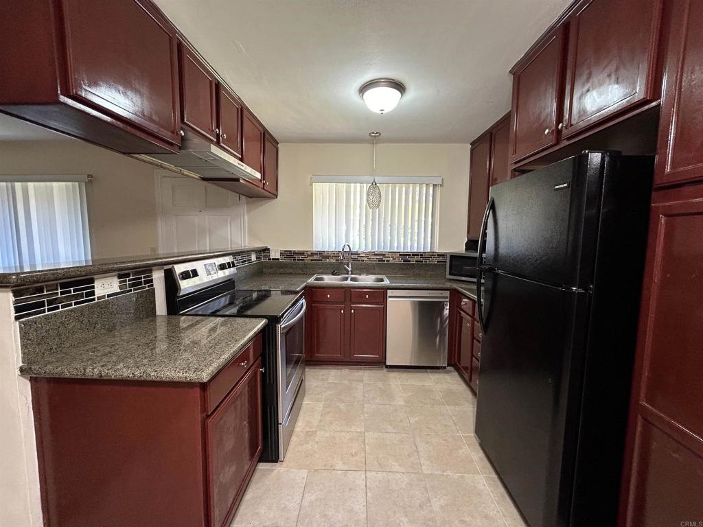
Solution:
[[[44,525],[227,526],[262,450],[261,336],[242,353],[203,384],[32,377]]]

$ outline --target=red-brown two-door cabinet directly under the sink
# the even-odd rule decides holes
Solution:
[[[307,289],[310,363],[385,363],[385,289]]]

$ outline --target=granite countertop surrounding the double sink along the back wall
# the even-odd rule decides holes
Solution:
[[[290,289],[299,291],[304,287],[358,287],[363,289],[454,289],[467,297],[476,299],[476,285],[462,280],[447,280],[437,276],[387,275],[387,284],[362,284],[359,282],[311,282],[314,275],[294,273],[264,273],[237,282],[237,289]]]

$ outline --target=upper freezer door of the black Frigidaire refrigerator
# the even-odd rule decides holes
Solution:
[[[607,155],[582,154],[491,187],[486,266],[588,287]]]

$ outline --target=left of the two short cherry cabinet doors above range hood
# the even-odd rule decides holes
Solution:
[[[179,63],[183,124],[217,141],[217,77],[183,42],[179,43]]]

